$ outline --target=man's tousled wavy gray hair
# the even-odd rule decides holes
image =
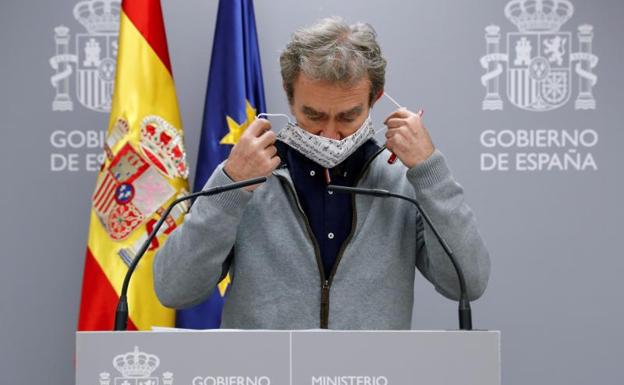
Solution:
[[[377,33],[365,23],[348,25],[331,17],[297,30],[280,55],[282,80],[292,104],[293,83],[300,72],[315,80],[353,84],[368,75],[369,103],[383,90],[386,59],[381,55]]]

